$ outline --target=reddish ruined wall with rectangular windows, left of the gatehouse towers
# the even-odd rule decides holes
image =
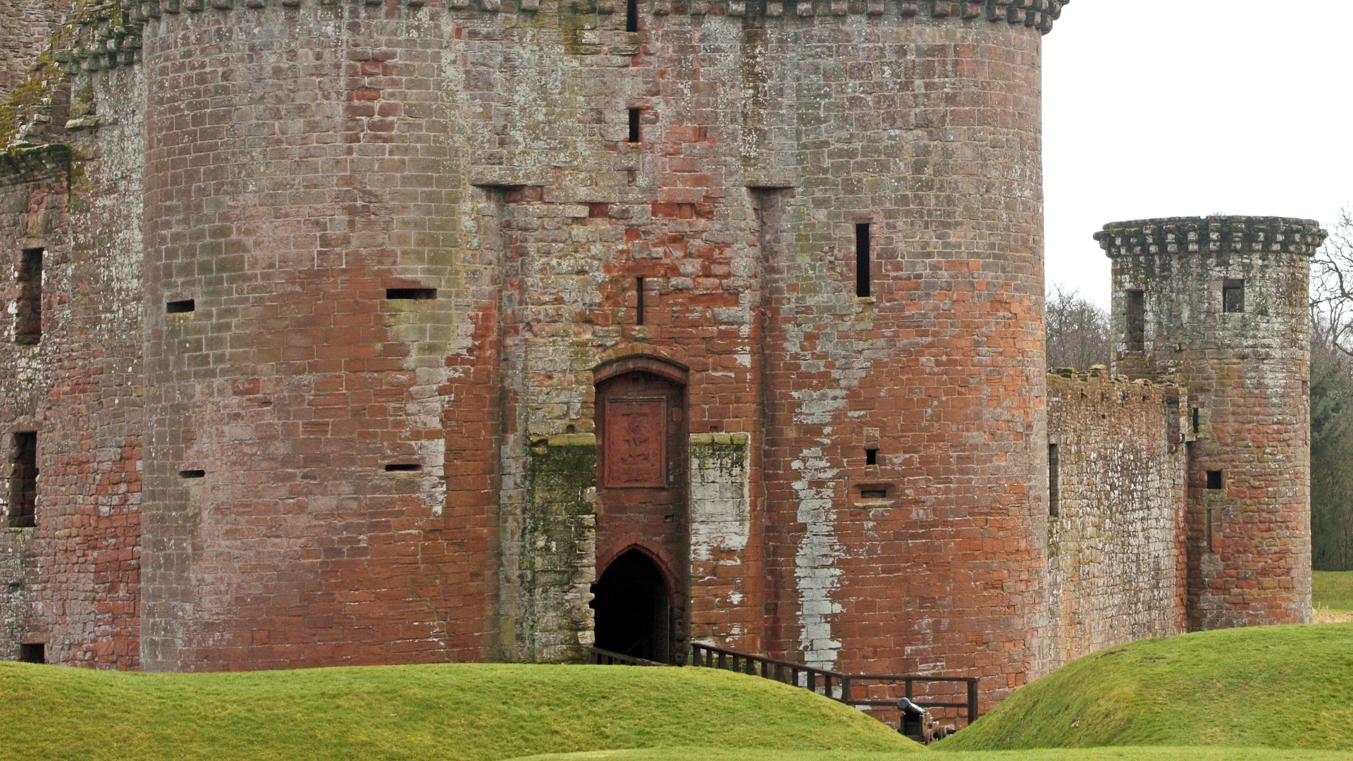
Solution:
[[[23,249],[43,249],[42,334],[0,343],[0,425],[38,433],[37,527],[5,528],[23,574],[0,653],[42,643],[49,662],[133,669],[141,551],[141,167],[143,79],[133,69],[76,77],[104,127],[61,134],[69,169],[4,187],[7,306]],[[130,223],[129,223],[130,222]],[[5,475],[9,475],[8,473]],[[8,497],[8,494],[5,494]],[[14,557],[15,551],[7,551]],[[7,582],[11,580],[5,580]],[[11,655],[12,657],[12,655]]]

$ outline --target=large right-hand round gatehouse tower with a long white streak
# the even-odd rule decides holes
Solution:
[[[764,253],[771,650],[992,704],[1051,665],[1040,32],[878,11],[767,19],[759,56],[797,133]]]

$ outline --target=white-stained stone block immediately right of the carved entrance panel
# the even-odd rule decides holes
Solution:
[[[690,436],[690,557],[736,566],[751,536],[747,433]],[[714,566],[706,566],[713,573]],[[710,577],[704,577],[710,578]],[[729,600],[733,601],[733,600]]]

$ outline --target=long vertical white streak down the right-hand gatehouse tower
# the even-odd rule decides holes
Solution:
[[[840,389],[804,390],[794,393],[800,402],[796,422],[825,425],[832,414],[846,408],[846,391]],[[832,592],[840,588],[842,570],[836,559],[844,550],[836,540],[836,510],[832,496],[839,469],[823,456],[820,448],[800,452],[792,466],[801,474],[793,482],[798,497],[798,523],[804,524],[804,538],[794,554],[794,578],[798,585],[798,643],[804,662],[809,666],[832,668],[842,643],[832,639],[832,615],[842,612],[832,601]]]

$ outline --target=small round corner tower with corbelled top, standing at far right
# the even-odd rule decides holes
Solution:
[[[1115,372],[1188,389],[1188,626],[1311,617],[1310,219],[1105,225]]]

